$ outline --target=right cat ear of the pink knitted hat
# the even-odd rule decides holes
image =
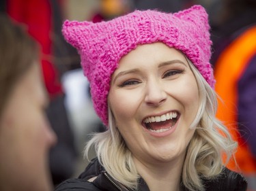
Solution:
[[[173,16],[176,16],[182,20],[190,20],[199,28],[204,27],[205,29],[210,29],[208,24],[208,14],[205,12],[205,9],[201,5],[194,5],[187,10],[173,14]]]

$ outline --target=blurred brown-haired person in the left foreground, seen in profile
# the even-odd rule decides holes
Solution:
[[[0,26],[0,190],[50,191],[56,137],[44,114],[39,47],[4,14]]]

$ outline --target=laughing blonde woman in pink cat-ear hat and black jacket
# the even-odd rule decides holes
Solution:
[[[97,158],[56,190],[246,190],[222,160],[236,142],[215,118],[209,29],[199,5],[64,22],[106,131],[87,143]]]

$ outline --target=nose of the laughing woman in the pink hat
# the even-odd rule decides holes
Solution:
[[[165,92],[165,88],[163,88],[159,82],[155,81],[148,83],[146,89],[145,103],[158,106],[166,101],[167,93]]]

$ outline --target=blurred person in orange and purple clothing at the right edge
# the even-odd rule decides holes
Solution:
[[[213,28],[217,117],[238,141],[227,167],[243,173],[256,190],[256,1],[225,0]],[[237,165],[238,164],[238,165]]]

